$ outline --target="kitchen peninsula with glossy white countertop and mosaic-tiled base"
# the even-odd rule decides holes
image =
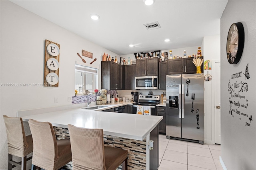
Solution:
[[[124,104],[120,104],[124,105]],[[118,105],[115,105],[115,107]],[[93,106],[92,106],[93,107]],[[113,106],[107,106],[109,109]],[[82,108],[50,111],[36,115],[22,116],[23,121],[34,119],[48,121],[54,126],[57,139],[69,139],[68,124],[84,128],[103,129],[104,145],[128,150],[128,170],[157,169],[158,167],[158,123],[161,116],[111,113]],[[29,111],[31,113],[31,110]],[[33,112],[33,111],[32,111]],[[149,150],[149,140],[154,141],[153,150]],[[66,165],[72,169],[72,163]],[[153,168],[152,168],[153,167]]]

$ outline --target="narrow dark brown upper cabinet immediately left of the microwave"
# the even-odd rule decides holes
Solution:
[[[136,65],[126,65],[125,67],[125,90],[136,90],[135,89],[135,76],[136,76]]]

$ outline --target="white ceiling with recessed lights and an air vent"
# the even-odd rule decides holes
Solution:
[[[220,34],[228,0],[11,0],[118,55],[202,45]],[[90,14],[98,14],[95,21]],[[143,24],[158,21],[159,29]],[[164,42],[170,39],[169,42]],[[133,44],[134,47],[129,47]]]

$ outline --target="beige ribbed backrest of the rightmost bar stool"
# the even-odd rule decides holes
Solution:
[[[68,124],[73,169],[106,170],[103,129],[86,129]]]

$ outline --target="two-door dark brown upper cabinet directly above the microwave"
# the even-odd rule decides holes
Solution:
[[[136,76],[158,76],[158,57],[136,60]]]

